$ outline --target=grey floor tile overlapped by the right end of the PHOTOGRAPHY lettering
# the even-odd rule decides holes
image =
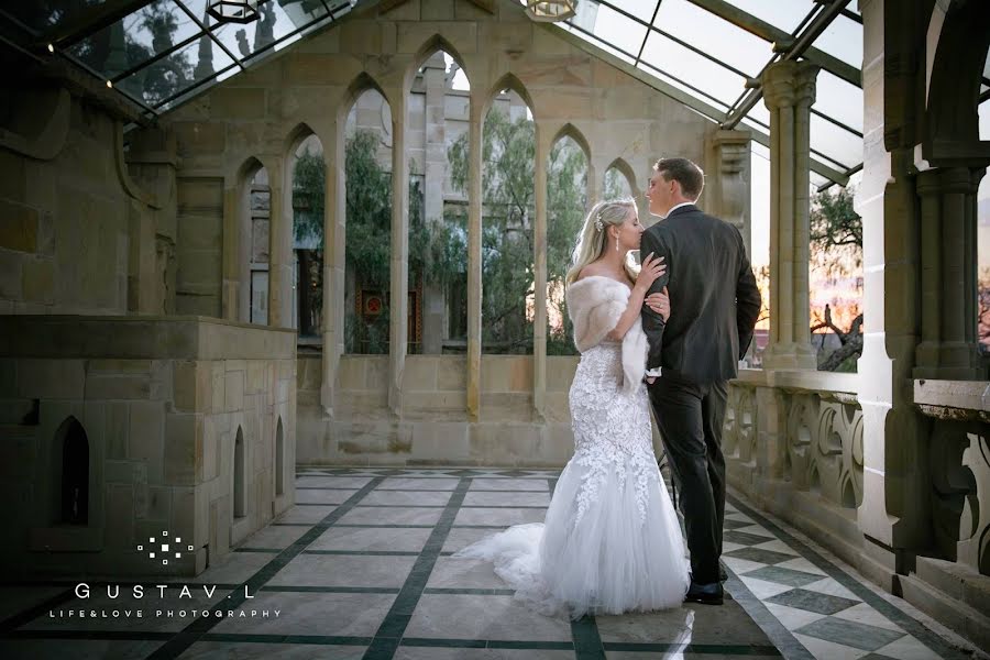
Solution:
[[[277,609],[277,617],[224,618],[211,631],[373,637],[393,601],[394,594],[263,591],[251,602],[252,609]]]

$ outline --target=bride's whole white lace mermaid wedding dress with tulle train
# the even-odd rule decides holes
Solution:
[[[574,457],[544,522],[510,527],[454,554],[494,561],[516,597],[546,615],[666,609],[688,591],[646,388],[623,387],[622,350],[602,341],[581,355],[570,391]]]

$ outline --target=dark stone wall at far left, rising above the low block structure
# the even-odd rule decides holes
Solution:
[[[57,84],[9,101],[0,127],[0,314],[169,311],[167,141],[135,131],[125,157],[123,118]]]

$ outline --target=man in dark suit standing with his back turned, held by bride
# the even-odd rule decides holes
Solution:
[[[650,293],[668,289],[670,318],[644,306],[642,329],[650,403],[691,551],[684,602],[722,605],[726,382],[752,341],[760,292],[736,228],[695,206],[704,184],[701,167],[686,158],[657,161],[646,196],[650,213],[663,220],[646,230],[639,251],[668,264]]]

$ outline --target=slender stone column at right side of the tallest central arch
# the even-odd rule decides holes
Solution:
[[[484,100],[471,95],[468,125],[468,419],[481,410],[482,125]]]

